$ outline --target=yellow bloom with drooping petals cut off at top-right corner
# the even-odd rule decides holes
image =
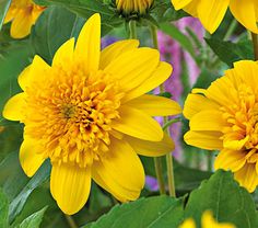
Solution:
[[[184,9],[198,18],[206,30],[214,33],[221,24],[227,8],[246,29],[258,33],[257,0],[171,0],[176,10]]]

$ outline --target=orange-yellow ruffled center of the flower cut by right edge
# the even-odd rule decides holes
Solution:
[[[221,107],[227,123],[223,129],[224,147],[246,152],[247,162],[255,163],[258,161],[258,98],[247,84],[232,93],[234,104]]]

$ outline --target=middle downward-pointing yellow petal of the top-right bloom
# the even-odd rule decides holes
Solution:
[[[214,33],[223,20],[230,0],[200,0],[197,12],[201,23],[210,33]]]

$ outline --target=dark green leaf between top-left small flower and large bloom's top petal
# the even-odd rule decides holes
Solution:
[[[49,7],[38,19],[31,38],[37,55],[51,64],[57,49],[77,37],[84,20],[60,7]]]

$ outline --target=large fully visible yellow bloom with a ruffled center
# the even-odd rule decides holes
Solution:
[[[163,81],[171,65],[134,39],[101,52],[101,18],[83,26],[77,45],[66,42],[48,66],[35,56],[19,77],[24,92],[11,98],[3,116],[24,123],[20,149],[32,176],[45,159],[52,170],[50,191],[66,214],[87,201],[91,178],[121,202],[139,197],[144,171],[137,153],[162,156],[174,148],[155,115],[175,115],[180,106],[144,94]]]

